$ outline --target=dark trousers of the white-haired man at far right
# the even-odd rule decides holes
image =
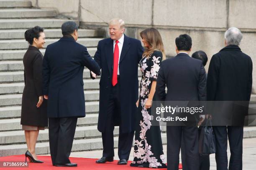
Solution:
[[[215,160],[217,170],[242,170],[243,167],[243,126],[214,126],[216,138]],[[228,141],[230,160],[228,167]]]

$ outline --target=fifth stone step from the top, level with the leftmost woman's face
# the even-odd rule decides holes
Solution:
[[[47,45],[58,41],[59,39],[47,39],[44,47],[46,48]],[[77,40],[78,43],[86,46],[86,47],[97,47],[98,42],[101,38],[79,38]],[[25,39],[22,40],[0,40],[0,50],[20,50],[20,49],[27,49],[28,42]]]

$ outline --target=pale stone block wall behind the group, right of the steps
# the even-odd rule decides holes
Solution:
[[[82,28],[104,29],[106,36],[112,18],[125,20],[126,34],[138,39],[141,30],[155,27],[169,56],[175,55],[175,38],[187,33],[192,37],[192,52],[204,50],[209,62],[224,47],[225,30],[237,27],[243,33],[241,49],[251,56],[256,68],[256,0],[32,0],[32,4],[55,8],[60,16],[78,18]],[[256,69],[253,93],[255,80]]]

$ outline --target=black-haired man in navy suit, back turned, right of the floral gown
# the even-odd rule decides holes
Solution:
[[[192,39],[179,35],[175,40],[177,56],[162,62],[156,83],[156,94],[161,101],[204,101],[206,100],[206,75],[201,60],[189,57]],[[167,94],[165,88],[167,87]],[[187,115],[190,116],[190,113]],[[199,116],[197,116],[197,120]],[[201,119],[201,122],[204,118]],[[195,121],[194,121],[195,122]],[[167,168],[179,169],[179,152],[182,145],[183,170],[199,170],[198,129],[194,126],[173,125],[167,130]]]

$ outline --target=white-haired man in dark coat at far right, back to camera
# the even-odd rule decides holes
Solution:
[[[231,104],[229,108],[225,108],[225,112],[220,110],[221,115],[220,112],[214,113],[213,120],[220,118],[224,120],[223,123],[225,120],[231,120],[231,125],[233,125],[213,127],[216,138],[217,170],[242,170],[243,121],[248,108],[234,108],[238,108],[235,101],[246,101],[248,105],[252,87],[251,57],[244,54],[238,47],[242,38],[243,35],[238,28],[229,28],[225,32],[225,47],[212,56],[208,71],[207,100],[223,101],[222,105],[225,105],[225,101],[229,101],[228,104]],[[227,109],[231,110],[228,114],[226,114]],[[230,123],[227,124],[230,125]],[[228,140],[231,153],[229,168]]]

